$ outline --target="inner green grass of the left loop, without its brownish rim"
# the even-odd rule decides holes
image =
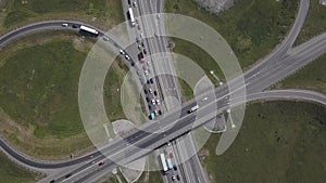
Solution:
[[[38,138],[83,132],[77,93],[85,57],[68,41],[16,51],[0,68],[0,105]]]

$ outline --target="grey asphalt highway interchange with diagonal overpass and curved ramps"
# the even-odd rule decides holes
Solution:
[[[143,14],[161,13],[163,11],[163,0],[137,1],[137,5],[134,5],[134,8],[133,4],[128,4],[128,2],[125,0],[122,3],[124,4],[124,13],[126,13],[129,8],[133,8],[134,10],[138,9],[138,13],[135,11],[137,18],[138,15],[140,16]],[[235,90],[229,91],[229,87],[227,84],[215,88],[214,93],[216,95],[216,100],[200,103],[197,113],[189,113],[189,109],[198,104],[196,99],[185,102],[180,107],[176,108],[173,106],[173,104],[165,104],[166,107],[161,108],[161,110],[164,113],[164,117],[159,117],[150,125],[140,127],[138,131],[133,132],[124,139],[114,139],[112,143],[103,147],[101,151],[95,151],[82,157],[61,162],[39,161],[33,159],[11,147],[3,138],[0,139],[1,149],[17,164],[23,165],[28,169],[34,169],[37,171],[43,170],[45,172],[48,170],[55,170],[57,173],[50,174],[40,182],[93,182],[108,172],[113,171],[118,166],[116,162],[120,165],[127,165],[128,162],[139,159],[140,157],[147,156],[152,151],[164,148],[164,146],[166,146],[166,142],[175,142],[177,139],[183,138],[186,134],[190,134],[189,132],[191,132],[192,129],[201,127],[209,120],[213,119],[217,114],[221,114],[231,107],[246,104],[250,101],[299,100],[326,105],[326,95],[322,93],[308,90],[267,90],[277,81],[291,75],[299,68],[308,65],[310,62],[316,60],[326,52],[326,32],[292,48],[303,26],[309,8],[309,0],[300,0],[300,8],[298,9],[296,21],[283,42],[277,45],[277,48],[275,48],[269,55],[247,70],[243,76],[235,77],[233,80],[228,81],[227,84],[233,86],[231,88]],[[153,26],[148,25],[150,23],[139,24],[141,24],[141,29],[143,29],[143,32],[141,34],[146,34],[146,29],[150,28],[148,26]],[[138,54],[138,48],[136,44],[130,45],[130,49],[125,49],[124,45],[120,43],[118,38],[112,36],[110,31],[105,32],[100,28],[76,21],[53,19],[23,26],[2,36],[0,38],[0,48],[4,47],[12,40],[18,39],[20,37],[32,32],[53,29],[79,31],[80,26],[87,26],[98,30],[98,39],[106,38],[109,40],[108,42],[116,48],[116,51],[124,50],[125,54],[130,56],[130,61],[126,61],[129,63],[130,67],[133,67],[130,63],[138,62],[136,61]],[[159,35],[164,35],[165,30],[162,27],[163,26],[161,26],[161,29],[156,30],[155,32]],[[128,28],[130,28],[130,30],[128,30],[130,38],[135,39],[136,37],[139,37],[139,35],[137,35],[136,27],[130,26]],[[166,47],[164,45],[166,44],[166,38],[159,37],[156,39],[151,39],[146,41],[146,48],[148,48],[147,52],[165,52]],[[167,55],[165,58],[172,60],[170,56],[171,55]],[[161,57],[161,60],[163,58]],[[158,69],[171,70],[174,68],[172,65],[153,65],[148,69],[152,69],[151,71],[154,71]],[[239,83],[241,83],[239,82],[241,79],[244,79],[244,86],[239,86]],[[156,82],[156,89],[162,88],[162,93],[159,94],[158,100],[162,102],[163,100],[160,96],[163,96],[164,99],[166,92],[171,92],[172,90],[175,90],[172,93],[178,97],[178,83],[175,78],[161,77],[155,80],[155,83]],[[237,95],[239,92],[238,90],[243,88],[246,88],[247,91],[246,99],[235,97],[234,101],[229,101],[229,92],[231,92],[234,95]],[[205,93],[202,93],[197,96],[197,99],[203,99],[205,95]],[[146,97],[147,96],[145,95],[143,99]],[[217,110],[215,110],[216,106],[218,106]],[[161,127],[161,123],[165,125],[164,128],[159,128]],[[187,142],[190,144],[188,147],[191,148],[191,144],[193,144],[193,142],[191,142],[191,140]],[[139,148],[145,151],[139,151]],[[183,154],[183,152],[180,152],[181,148],[175,148],[176,149],[174,154],[177,152]],[[105,161],[105,164],[99,167],[98,162],[101,161]],[[187,171],[184,172],[180,172],[180,168],[177,170],[178,174],[181,177],[180,181],[208,182],[208,175],[198,158],[191,158],[184,165],[180,164],[180,166],[184,166],[184,168],[188,167]],[[173,182],[172,178],[175,177],[171,175],[164,181]]]

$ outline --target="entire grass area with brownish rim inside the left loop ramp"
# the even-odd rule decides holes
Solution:
[[[82,66],[92,44],[92,39],[74,32],[51,31],[24,37],[1,50],[0,131],[20,151],[62,159],[93,148],[77,99]],[[123,69],[115,65],[108,73],[109,91],[121,80]],[[120,94],[108,97],[116,101]],[[110,107],[116,112],[110,118],[122,116],[121,108]]]

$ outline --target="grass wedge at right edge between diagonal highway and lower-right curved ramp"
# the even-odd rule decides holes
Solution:
[[[276,83],[273,88],[308,89],[326,93],[326,54]]]

